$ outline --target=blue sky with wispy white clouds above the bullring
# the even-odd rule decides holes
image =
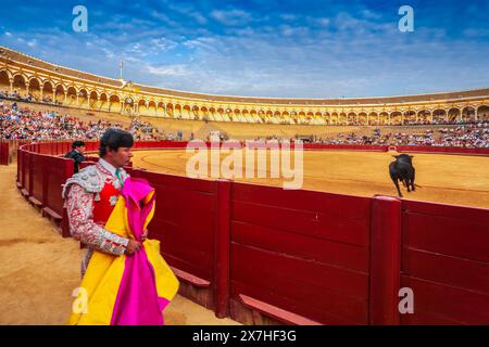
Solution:
[[[72,29],[75,5],[88,31]],[[414,31],[401,33],[401,5]],[[337,98],[489,87],[489,1],[4,1],[0,44],[171,89]]]

